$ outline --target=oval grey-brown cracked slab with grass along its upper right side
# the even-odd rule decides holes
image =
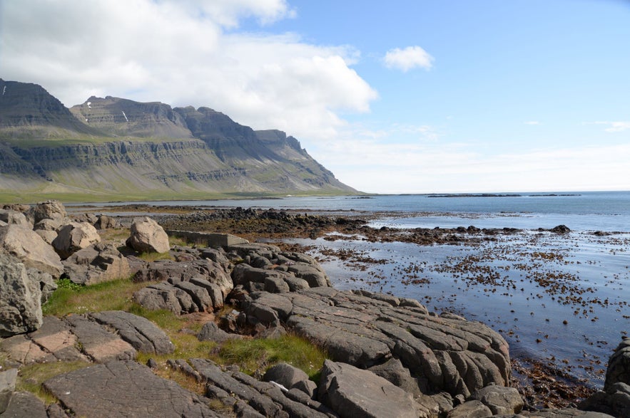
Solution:
[[[175,351],[168,335],[146,318],[122,310],[106,310],[90,316],[101,325],[115,329],[123,340],[140,352],[161,355]]]

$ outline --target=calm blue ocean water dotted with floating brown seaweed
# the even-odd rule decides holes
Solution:
[[[376,228],[521,229],[477,244],[371,243],[362,236],[287,241],[310,246],[337,288],[416,298],[430,310],[480,320],[504,335],[513,357],[595,387],[630,332],[630,192],[126,203],[303,209],[366,216]],[[544,231],[561,224],[571,232]],[[356,257],[344,261],[336,251]]]

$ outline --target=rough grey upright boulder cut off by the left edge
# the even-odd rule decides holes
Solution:
[[[39,281],[17,258],[0,253],[0,337],[34,331],[43,320]]]

